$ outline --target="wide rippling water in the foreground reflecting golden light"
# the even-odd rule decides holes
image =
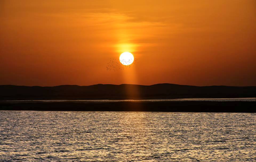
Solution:
[[[0,111],[0,161],[256,161],[256,113]]]

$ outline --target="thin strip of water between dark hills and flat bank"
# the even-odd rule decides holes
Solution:
[[[8,101],[31,101],[31,100],[8,100]],[[256,101],[256,98],[182,98],[182,99],[143,99],[143,100],[33,100],[43,102],[120,102],[120,101]]]

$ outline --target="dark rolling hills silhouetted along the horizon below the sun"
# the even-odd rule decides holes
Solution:
[[[177,84],[53,87],[0,85],[0,100],[34,99],[169,99],[256,97],[256,86],[189,86]]]

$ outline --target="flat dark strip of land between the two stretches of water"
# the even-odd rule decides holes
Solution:
[[[42,102],[0,101],[0,110],[35,111],[152,111],[152,112],[256,112],[256,102],[246,101],[122,101]]]

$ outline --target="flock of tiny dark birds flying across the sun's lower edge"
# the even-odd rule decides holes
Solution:
[[[133,63],[130,65],[123,65],[121,62],[127,64],[130,63],[131,60],[119,60],[119,59],[110,59],[110,61],[107,63],[107,71],[118,71],[118,70],[124,70],[127,68],[131,68],[135,62],[137,61],[137,59],[134,59]]]

